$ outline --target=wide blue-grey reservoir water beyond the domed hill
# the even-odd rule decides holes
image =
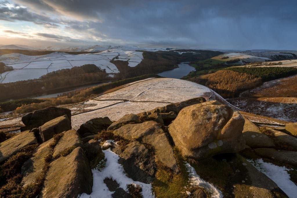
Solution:
[[[158,73],[158,75],[166,78],[180,79],[183,76],[187,76],[191,71],[195,71],[195,68],[190,66],[189,63],[180,63],[178,64],[178,68],[163,71]]]

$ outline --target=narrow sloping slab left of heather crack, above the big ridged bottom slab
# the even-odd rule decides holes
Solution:
[[[33,157],[28,159],[21,168],[23,175],[22,182],[24,186],[35,182],[36,178],[42,173],[45,166],[45,157],[50,154],[50,144],[53,143],[53,138],[40,144],[36,149]]]

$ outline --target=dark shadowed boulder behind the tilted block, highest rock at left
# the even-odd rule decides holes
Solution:
[[[71,125],[70,109],[61,107],[48,107],[45,109],[36,110],[33,113],[26,114],[22,117],[22,122],[25,124],[25,127],[21,127],[21,131],[38,128],[46,122],[64,115],[67,115]]]

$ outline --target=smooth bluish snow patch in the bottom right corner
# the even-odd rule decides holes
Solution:
[[[280,167],[268,162],[264,162],[263,159],[249,159],[247,161],[256,167],[257,170],[264,173],[267,177],[274,181],[289,198],[296,197],[297,186],[293,181],[290,180],[290,174],[287,172],[289,169],[287,169],[285,166]]]

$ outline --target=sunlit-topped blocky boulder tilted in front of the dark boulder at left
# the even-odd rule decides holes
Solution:
[[[69,119],[66,115],[50,120],[39,127],[39,134],[42,142],[48,141],[55,134],[71,129]]]

